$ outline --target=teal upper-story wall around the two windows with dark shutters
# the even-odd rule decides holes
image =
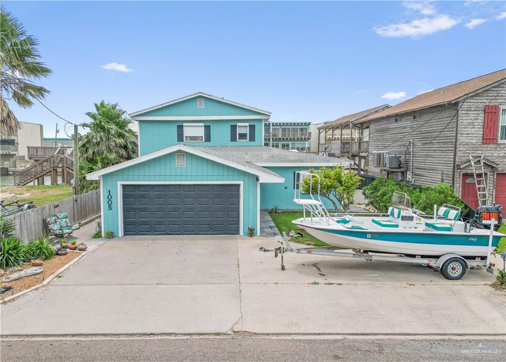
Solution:
[[[211,126],[210,142],[178,142],[177,125],[183,123],[204,123]],[[230,141],[230,125],[237,123],[249,123],[255,125],[255,141]],[[140,155],[171,147],[177,143],[189,144],[192,146],[262,146],[262,119],[240,119],[240,120],[209,120],[206,122],[198,119],[192,121],[175,120],[140,120]]]

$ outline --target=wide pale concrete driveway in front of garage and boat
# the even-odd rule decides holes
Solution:
[[[111,239],[49,287],[2,306],[2,334],[503,334],[493,276],[288,254],[271,238]]]

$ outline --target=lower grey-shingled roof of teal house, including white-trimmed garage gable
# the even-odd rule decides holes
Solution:
[[[184,151],[204,157],[220,164],[259,176],[260,182],[284,182],[284,178],[267,166],[350,166],[350,160],[319,156],[305,152],[294,152],[265,146],[190,146],[177,144],[162,150],[146,154],[129,161],[91,172],[86,175],[88,180],[99,180],[99,177],[110,172],[133,166],[149,159],[168,153]]]

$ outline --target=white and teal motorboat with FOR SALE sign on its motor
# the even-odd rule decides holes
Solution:
[[[330,216],[319,192],[319,177],[300,172],[300,180],[310,178],[309,198],[301,197],[296,190],[294,202],[302,205],[304,217],[293,220],[294,225],[334,247],[402,254],[412,257],[439,257],[456,254],[465,259],[487,258],[505,236],[487,226],[487,220],[475,219],[464,222],[461,210],[443,205],[434,215],[427,216],[411,208],[409,197],[402,192],[394,193],[394,201],[384,214],[338,214]],[[313,179],[318,180],[316,198],[313,195]],[[485,219],[501,219],[501,207],[488,207]],[[485,213],[480,214],[483,217]],[[493,224],[493,223],[492,223]]]

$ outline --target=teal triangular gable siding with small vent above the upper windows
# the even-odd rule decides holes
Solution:
[[[197,108],[197,98],[204,99],[204,108]],[[220,102],[206,97],[194,97],[165,107],[153,109],[139,116],[203,116],[203,115],[261,115],[263,113]],[[266,116],[268,118],[268,116]]]

